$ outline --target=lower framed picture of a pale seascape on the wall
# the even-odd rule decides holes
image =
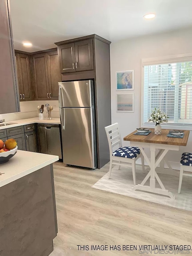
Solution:
[[[117,112],[134,112],[134,93],[117,94]]]

